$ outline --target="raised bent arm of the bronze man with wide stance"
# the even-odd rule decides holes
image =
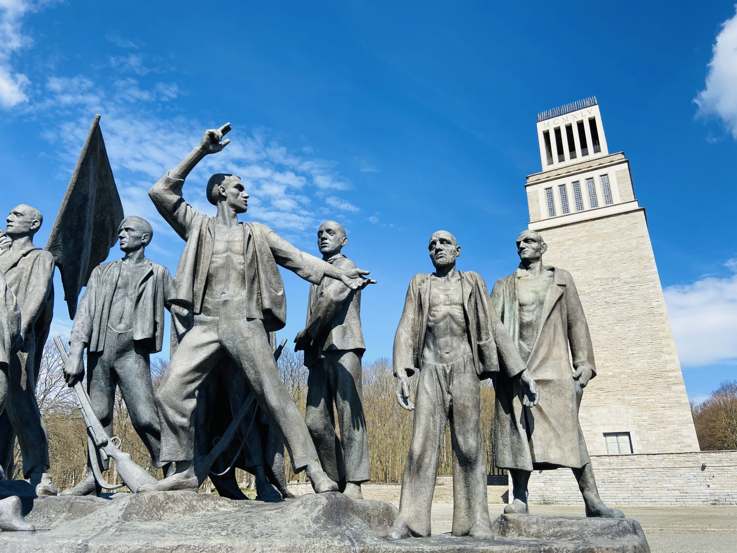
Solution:
[[[220,128],[205,131],[200,143],[174,169],[158,179],[158,182],[148,191],[149,198],[161,213],[161,217],[166,219],[172,229],[184,240],[188,237],[192,218],[197,213],[182,197],[184,179],[205,156],[220,152],[228,145],[230,140],[223,140],[223,135],[230,130],[230,123],[226,123]],[[221,140],[223,142],[220,142]]]

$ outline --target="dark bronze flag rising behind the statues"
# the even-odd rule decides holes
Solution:
[[[61,273],[71,319],[91,272],[118,240],[122,220],[123,206],[96,115],[46,244]]]

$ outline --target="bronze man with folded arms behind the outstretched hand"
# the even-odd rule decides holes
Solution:
[[[318,229],[323,260],[351,270],[356,265],[340,253],[347,243],[346,229],[340,223],[325,221]],[[371,478],[361,386],[361,358],[366,346],[360,310],[359,290],[324,278],[319,285],[310,286],[307,324],[294,338],[294,350],[304,349],[304,364],[310,368],[304,414],[307,429],[325,472],[353,499],[363,499],[361,483]],[[333,402],[340,439],[335,434]]]

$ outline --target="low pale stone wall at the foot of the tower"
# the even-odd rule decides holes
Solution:
[[[736,505],[737,451],[591,456],[610,505]],[[530,504],[582,504],[570,469],[535,471]],[[511,494],[511,488],[510,488]]]

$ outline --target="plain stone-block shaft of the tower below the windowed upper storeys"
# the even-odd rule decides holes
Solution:
[[[629,432],[632,453],[698,451],[644,209],[539,231],[547,265],[570,271],[586,313],[597,376],[579,420],[589,453]]]

